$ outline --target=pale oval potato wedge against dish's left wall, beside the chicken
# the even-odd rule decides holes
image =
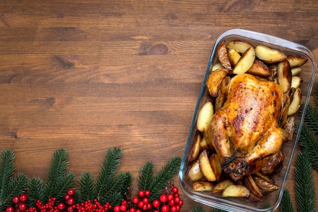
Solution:
[[[213,104],[210,101],[207,101],[202,105],[202,108],[199,111],[197,119],[197,129],[201,132],[204,132],[208,129],[208,126],[213,117]]]

